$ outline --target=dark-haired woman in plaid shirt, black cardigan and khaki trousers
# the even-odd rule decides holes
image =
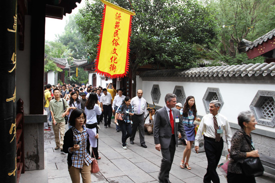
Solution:
[[[74,109],[69,118],[69,124],[72,126],[64,136],[63,152],[68,153],[67,163],[68,172],[72,183],[79,183],[81,174],[83,183],[90,183],[90,145],[88,135],[84,124],[86,115],[80,109]],[[98,138],[96,134],[95,138]]]

